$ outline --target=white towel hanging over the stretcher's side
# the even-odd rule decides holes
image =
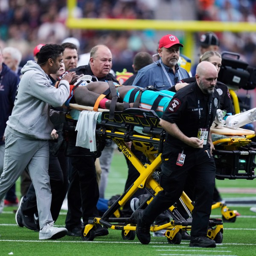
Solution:
[[[96,151],[96,121],[100,112],[83,110],[76,124],[76,146]]]

